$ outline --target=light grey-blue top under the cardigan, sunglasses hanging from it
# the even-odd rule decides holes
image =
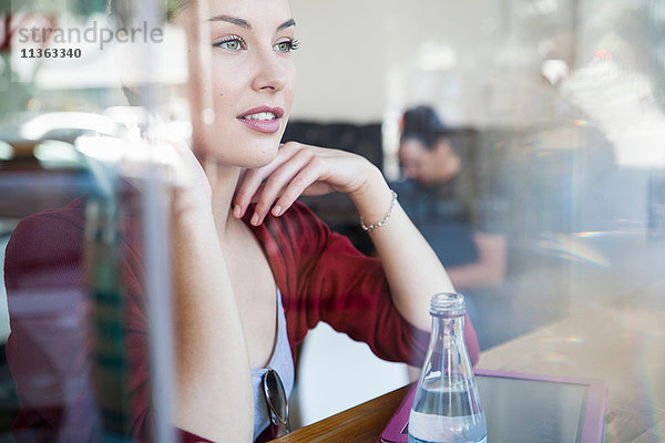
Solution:
[[[288,344],[288,337],[286,336],[286,317],[284,315],[279,289],[277,289],[277,339],[275,340],[275,349],[273,350],[268,367],[273,368],[279,374],[282,383],[284,383],[286,398],[288,399],[294,389],[294,359]],[[268,424],[270,424],[268,405],[266,404],[262,385],[262,379],[267,371],[267,368],[252,370],[252,387],[254,389],[253,440],[256,440]]]

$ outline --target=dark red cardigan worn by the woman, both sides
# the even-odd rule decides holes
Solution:
[[[24,441],[52,441],[57,433],[65,441],[90,441],[94,435],[96,408],[86,352],[91,342],[83,308],[84,206],[80,198],[62,209],[28,217],[7,247],[11,321],[7,352],[21,405],[14,423],[14,430],[23,430],[14,433],[19,442],[25,430],[43,439],[30,433]],[[140,243],[133,239],[135,222],[121,225],[131,425],[143,440],[152,429],[149,330],[140,284],[143,266]],[[323,320],[366,342],[382,359],[422,363],[429,333],[396,310],[379,260],[360,254],[298,203],[282,217],[268,216],[252,229],[282,290],[294,358],[296,344]],[[466,324],[467,346],[475,362],[475,331],[468,318]],[[184,432],[183,436],[195,437]]]

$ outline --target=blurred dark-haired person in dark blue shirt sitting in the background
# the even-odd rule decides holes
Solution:
[[[474,320],[482,309],[474,295],[505,278],[507,244],[504,236],[479,228],[473,183],[462,163],[467,140],[468,133],[446,126],[431,107],[408,110],[399,145],[406,179],[392,186],[457,290],[467,296]],[[482,324],[474,324],[480,339]]]

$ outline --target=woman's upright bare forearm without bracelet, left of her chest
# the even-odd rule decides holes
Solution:
[[[175,226],[176,423],[213,441],[249,442],[249,359],[212,215],[180,216]]]

